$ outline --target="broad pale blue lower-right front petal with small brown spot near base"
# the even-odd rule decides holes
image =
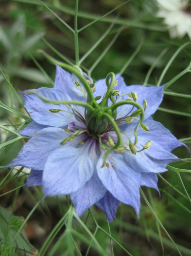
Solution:
[[[127,166],[122,154],[110,154],[105,166],[102,167],[102,165],[103,153],[97,163],[98,176],[116,199],[133,206],[139,216],[140,173]]]

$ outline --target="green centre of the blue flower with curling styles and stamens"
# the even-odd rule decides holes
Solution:
[[[53,103],[55,105],[58,104],[65,104],[69,107],[71,111],[66,111],[62,109],[50,109],[51,113],[58,113],[60,111],[71,113],[75,116],[76,120],[81,122],[82,129],[75,127],[75,122],[69,123],[68,129],[65,132],[69,133],[69,136],[65,138],[61,144],[66,144],[68,141],[73,140],[76,137],[81,135],[86,135],[88,137],[93,137],[97,139],[98,143],[100,144],[100,148],[105,150],[104,154],[104,163],[105,159],[113,150],[117,150],[118,152],[124,152],[125,150],[131,151],[133,154],[140,152],[142,150],[148,149],[151,145],[151,141],[148,140],[143,148],[139,151],[136,150],[135,145],[138,142],[138,128],[141,128],[144,131],[149,131],[149,128],[142,122],[144,119],[144,112],[147,108],[147,102],[143,99],[142,106],[137,102],[138,96],[135,92],[126,93],[126,94],[119,94],[119,91],[114,87],[118,84],[118,80],[115,80],[114,73],[109,73],[105,79],[106,90],[104,93],[103,98],[101,96],[95,97],[93,96],[93,92],[96,90],[93,81],[84,75],[82,70],[79,67],[70,67],[67,64],[64,64],[64,67],[69,71],[72,71],[78,78],[79,81],[75,81],[75,85],[79,87],[86,99],[86,102],[81,101],[57,101],[57,100],[50,100],[47,98],[43,98],[36,94],[34,91],[29,91],[28,93],[36,94],[39,98],[43,101],[48,103]],[[127,98],[119,101],[119,99],[126,95]],[[98,100],[101,100],[98,103]],[[108,101],[111,101],[111,106],[108,106]],[[84,116],[80,114],[78,111],[73,108],[73,105],[81,105],[85,108]],[[72,105],[72,106],[71,106]],[[131,110],[122,118],[117,118],[117,108],[122,105],[131,105]],[[134,110],[137,108],[137,110]],[[134,129],[134,142],[131,141],[129,136],[122,131],[120,131],[119,126],[123,124],[129,124],[133,120],[137,120],[137,125]],[[117,134],[117,140],[114,141],[109,132],[115,132]],[[124,134],[129,140],[129,147],[127,148],[122,144],[122,136]],[[79,140],[80,144],[84,144],[85,141]]]

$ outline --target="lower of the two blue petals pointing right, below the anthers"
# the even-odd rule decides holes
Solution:
[[[141,150],[147,141],[148,138],[139,137],[136,149]],[[166,151],[153,140],[151,140],[149,149],[137,152],[136,155],[132,154],[130,151],[125,151],[123,154],[127,164],[131,168],[137,172],[144,173],[165,172],[167,164],[178,160],[176,156]]]

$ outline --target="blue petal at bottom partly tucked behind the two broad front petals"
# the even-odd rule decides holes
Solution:
[[[102,181],[97,176],[97,173],[94,172],[83,187],[70,195],[76,214],[81,216],[83,212],[102,198],[105,192],[106,189]]]

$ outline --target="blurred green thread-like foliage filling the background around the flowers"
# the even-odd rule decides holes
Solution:
[[[154,119],[191,146],[189,38],[169,38],[156,18],[155,0],[79,0],[78,11],[77,3],[0,2],[0,255],[189,256],[191,158],[186,148],[174,150],[185,159],[159,175],[160,197],[142,188],[140,219],[121,204],[109,225],[94,206],[75,216],[69,197],[41,202],[40,187],[24,189],[29,170],[5,168],[25,143],[17,132],[30,122],[19,90],[53,86],[55,66],[42,51],[79,65],[94,80],[114,72],[127,85],[167,83]]]

